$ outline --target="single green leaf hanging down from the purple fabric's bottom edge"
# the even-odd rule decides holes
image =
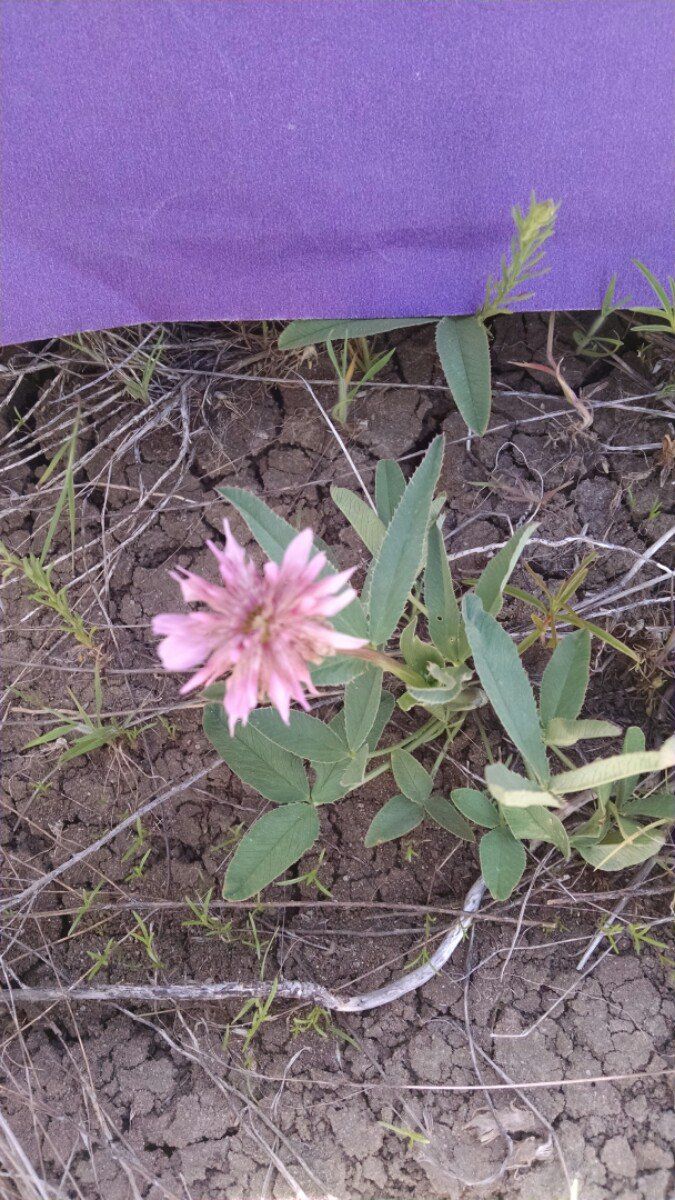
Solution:
[[[485,326],[476,317],[443,317],[436,325],[436,349],[464,420],[483,434],[492,398]]]

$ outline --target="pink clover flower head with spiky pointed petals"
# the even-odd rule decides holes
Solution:
[[[262,572],[227,521],[225,538],[225,550],[207,542],[217,558],[222,587],[181,566],[172,571],[183,599],[205,608],[183,617],[160,613],[153,632],[162,637],[157,649],[167,671],[190,671],[203,664],[180,689],[183,694],[228,676],[225,710],[233,734],[237,722],[246,725],[253,708],[268,698],[288,724],[291,701],[306,709],[305,692],[317,694],[307,665],[366,643],[330,625],[329,618],[356,596],[346,586],[352,571],[318,578],[327,559],[321,553],[310,558],[311,529],[293,538],[281,565],[265,563]]]

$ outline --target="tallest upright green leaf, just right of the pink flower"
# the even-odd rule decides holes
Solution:
[[[418,576],[443,460],[443,438],[431,443],[389,523],[370,588],[370,636],[381,646],[394,632]]]

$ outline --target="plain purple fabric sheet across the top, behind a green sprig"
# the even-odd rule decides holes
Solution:
[[[531,308],[670,266],[662,0],[4,0],[5,342],[473,311],[536,188]],[[669,110],[670,104],[670,110]]]

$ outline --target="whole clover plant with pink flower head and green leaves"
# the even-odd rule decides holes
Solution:
[[[580,766],[569,758],[584,740],[621,733],[613,722],[580,718],[591,636],[638,658],[572,608],[589,562],[556,592],[531,572],[545,602],[514,588],[512,574],[536,528],[524,526],[460,599],[443,542],[442,499],[434,494],[442,454],[436,438],[407,484],[396,463],[378,463],[374,508],[345,488],[333,490],[372,556],[360,598],[346,590],[348,572],[312,545],[309,530],[298,534],[255,496],[225,488],[270,557],[269,590],[228,529],[226,551],[214,547],[223,588],[181,576],[185,599],[207,601],[209,613],[156,618],[166,642],[175,640],[162,648],[165,664],[174,662],[174,649],[175,665],[179,656],[183,664],[195,640],[190,660],[207,664],[190,686],[208,685],[207,737],[228,768],[274,805],[238,841],[223,899],[247,900],[282,876],[315,846],[322,806],[383,775],[392,780],[390,796],[374,815],[365,846],[407,838],[423,822],[468,844],[478,839],[483,877],[500,900],[522,876],[526,842],[550,842],[565,858],[575,851],[599,870],[640,863],[664,844],[675,820],[673,796],[667,788],[643,794],[638,785],[675,766],[675,738],[647,751],[639,731],[629,730],[619,754]],[[228,590],[234,586],[235,604]],[[520,649],[544,636],[552,647],[538,701],[519,648],[497,619],[509,593],[537,614]],[[560,619],[578,628],[560,638]],[[227,680],[216,682],[223,674]],[[341,695],[327,721],[291,708],[291,700],[306,708],[306,694],[322,685]],[[256,707],[262,697],[270,704]],[[476,721],[484,737],[483,707],[491,708],[513,750],[506,749],[503,762],[489,762],[484,788],[448,792],[441,768],[466,722]],[[411,714],[412,725],[382,744],[395,709]],[[489,749],[486,738],[484,744]],[[551,758],[565,769],[554,772]],[[579,793],[591,812],[575,824],[573,812],[566,814],[574,808],[567,798]],[[283,886],[316,887],[319,865],[321,859]]]

